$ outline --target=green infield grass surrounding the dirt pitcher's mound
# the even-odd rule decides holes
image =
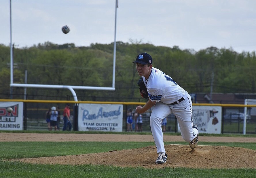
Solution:
[[[207,135],[209,136],[209,135]],[[230,135],[233,136],[233,135]],[[239,136],[239,135],[235,135]],[[242,136],[242,135],[241,135]],[[252,136],[252,135],[248,135]],[[255,135],[254,135],[255,136]],[[165,142],[165,144],[186,144],[186,142]],[[74,178],[74,177],[244,177],[255,178],[256,169],[191,169],[163,168],[146,169],[142,167],[114,167],[104,165],[39,165],[5,159],[52,157],[62,155],[108,152],[117,149],[132,149],[154,145],[154,142],[1,142],[0,177],[2,178]],[[200,142],[199,145],[236,146],[256,150],[256,143]],[[138,155],[143,156],[143,155]],[[253,155],[252,155],[253,156]],[[255,156],[255,155],[254,155]],[[95,158],[100,159],[100,158]],[[232,159],[232,158],[230,158]],[[255,160],[256,161],[256,160]]]

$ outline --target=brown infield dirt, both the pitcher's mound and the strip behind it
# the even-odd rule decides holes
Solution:
[[[104,141],[104,142],[153,142],[151,135],[118,134],[30,134],[0,133],[0,142],[7,141]],[[183,141],[181,136],[164,136],[164,141]],[[199,137],[201,142],[251,142],[256,138],[241,137]],[[256,168],[256,150],[227,146],[198,145],[191,150],[189,145],[165,145],[168,154],[166,164],[156,164],[156,147],[148,146],[130,150],[109,150],[109,152],[16,159],[16,161],[35,164],[95,164],[120,167],[188,167],[188,168]],[[97,159],[95,159],[97,158]]]

